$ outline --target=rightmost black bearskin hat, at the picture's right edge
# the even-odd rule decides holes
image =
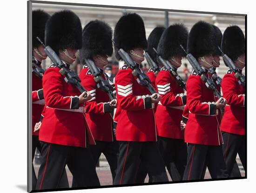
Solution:
[[[240,27],[227,27],[222,37],[222,51],[232,60],[245,53],[245,38]]]

